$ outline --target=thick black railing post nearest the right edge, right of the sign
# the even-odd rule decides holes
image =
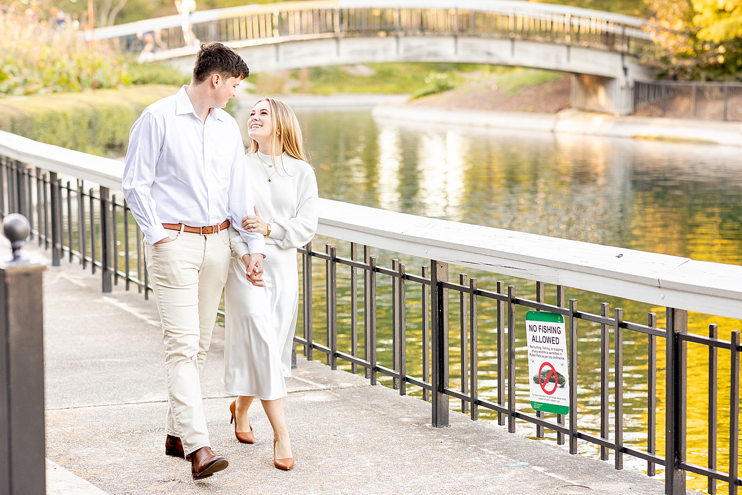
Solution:
[[[686,472],[680,462],[686,460],[686,408],[684,387],[686,381],[686,353],[679,332],[688,328],[688,312],[667,308],[666,342],[666,420],[665,420],[665,494],[685,495]]]

